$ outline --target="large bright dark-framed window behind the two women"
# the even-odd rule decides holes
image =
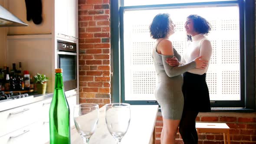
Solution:
[[[254,78],[255,33],[248,35],[249,32],[246,32],[248,26],[253,32],[255,31],[255,21],[252,23],[246,19],[249,8],[254,10],[254,7],[249,7],[252,3],[249,5],[247,0],[193,0],[194,3],[189,1],[191,0],[172,0],[172,3],[170,0],[121,2],[123,5],[119,11],[121,81],[118,84],[121,89],[121,101],[142,105],[157,104],[154,97],[157,76],[151,57],[155,40],[151,39],[148,29],[154,16],[158,13],[170,14],[176,25],[175,34],[170,40],[182,56],[187,46],[184,30],[186,17],[190,14],[198,14],[212,25],[207,37],[212,43],[213,52],[206,78],[212,108],[248,108],[246,98],[255,100],[253,89],[255,79],[253,81],[246,79],[248,74]],[[254,15],[250,14],[254,19]],[[115,51],[115,48],[112,48]],[[248,52],[251,55],[248,55]],[[113,54],[115,55],[115,52]],[[246,64],[246,60],[253,60],[250,62],[251,68]],[[112,82],[113,84],[115,85]],[[253,85],[253,88],[248,89],[247,85],[251,87]],[[113,90],[112,88],[112,93],[115,93]],[[118,97],[114,96],[114,98]]]

